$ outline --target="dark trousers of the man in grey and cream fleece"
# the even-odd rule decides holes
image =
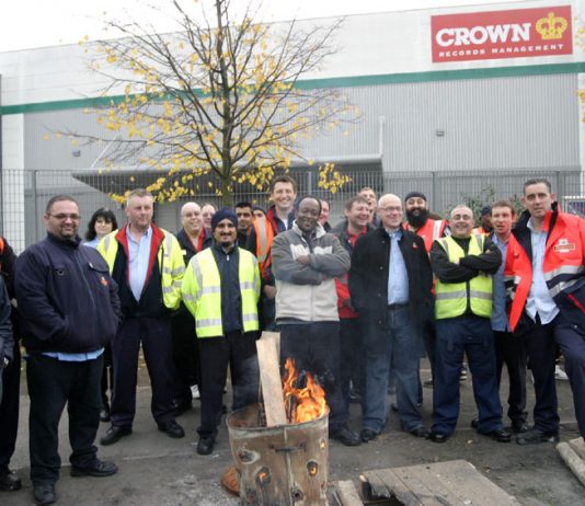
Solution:
[[[279,324],[280,367],[292,357],[298,370],[318,377],[329,404],[329,429],[336,432],[349,416],[343,401],[340,372],[341,347],[339,322]]]

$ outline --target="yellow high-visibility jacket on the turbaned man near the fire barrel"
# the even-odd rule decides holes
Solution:
[[[244,332],[260,329],[257,299],[260,273],[254,255],[240,248],[239,281]],[[197,253],[188,263],[181,291],[183,302],[195,318],[197,337],[223,335],[221,321],[221,278],[211,249]]]

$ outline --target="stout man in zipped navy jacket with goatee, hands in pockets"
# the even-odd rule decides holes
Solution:
[[[100,381],[104,345],[116,334],[119,300],[107,265],[83,248],[79,205],[53,197],[47,237],[16,260],[14,284],[28,352],[31,481],[37,504],[56,501],[58,425],[67,404],[72,476],[107,476],[117,468],[97,459]]]

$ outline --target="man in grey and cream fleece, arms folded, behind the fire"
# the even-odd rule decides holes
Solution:
[[[306,196],[297,203],[292,228],[274,239],[276,322],[280,364],[294,358],[298,370],[319,378],[330,406],[329,435],[346,446],[359,445],[347,427],[340,375],[340,315],[335,278],[349,268],[349,255],[319,223],[321,203]]]

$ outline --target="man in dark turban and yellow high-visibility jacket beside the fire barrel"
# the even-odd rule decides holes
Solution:
[[[257,402],[260,273],[254,255],[238,248],[237,227],[238,216],[231,209],[214,215],[215,244],[191,260],[181,288],[185,306],[195,318],[202,359],[199,455],[214,450],[228,365],[232,409]]]

